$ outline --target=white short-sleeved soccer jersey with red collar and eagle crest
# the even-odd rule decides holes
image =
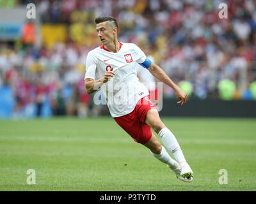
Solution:
[[[84,80],[98,80],[109,70],[115,73],[101,87],[112,117],[131,113],[136,103],[148,95],[136,72],[137,64],[145,59],[144,52],[133,43],[120,43],[120,50],[116,53],[109,52],[103,45],[88,53]]]

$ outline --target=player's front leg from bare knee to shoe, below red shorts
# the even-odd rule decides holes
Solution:
[[[193,177],[193,171],[186,162],[179,143],[177,142],[170,129],[164,126],[156,109],[152,108],[151,110],[148,110],[145,123],[153,128],[154,131],[156,131],[156,133],[160,136],[164,146],[170,150],[174,159],[179,163],[180,168],[182,169],[181,175],[187,179]]]

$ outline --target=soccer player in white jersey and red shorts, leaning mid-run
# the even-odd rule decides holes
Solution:
[[[163,69],[150,61],[133,43],[118,41],[118,24],[113,17],[95,18],[96,31],[102,43],[91,50],[86,59],[84,89],[88,94],[101,89],[111,116],[135,142],[152,152],[152,156],[167,164],[176,177],[184,182],[193,180],[193,171],[187,163],[172,131],[159,117],[156,106],[148,98],[148,90],[139,82],[136,63],[148,69],[159,81],[170,86],[183,105],[188,96],[176,85]],[[159,135],[170,157],[151,129]]]

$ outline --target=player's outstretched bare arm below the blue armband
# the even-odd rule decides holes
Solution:
[[[177,103],[179,103],[180,105],[183,105],[184,103],[186,103],[188,101],[188,96],[187,96],[186,92],[182,91],[182,89],[180,89],[180,87],[177,84],[175,84],[170,79],[170,77],[168,77],[168,75],[166,75],[166,73],[163,71],[163,69],[161,69],[159,66],[157,66],[157,64],[152,62],[150,68],[148,68],[148,71],[150,71],[150,73],[154,77],[156,77],[158,80],[160,80],[164,84],[172,87],[172,89],[175,91],[177,98],[180,99],[180,101],[178,101]]]

